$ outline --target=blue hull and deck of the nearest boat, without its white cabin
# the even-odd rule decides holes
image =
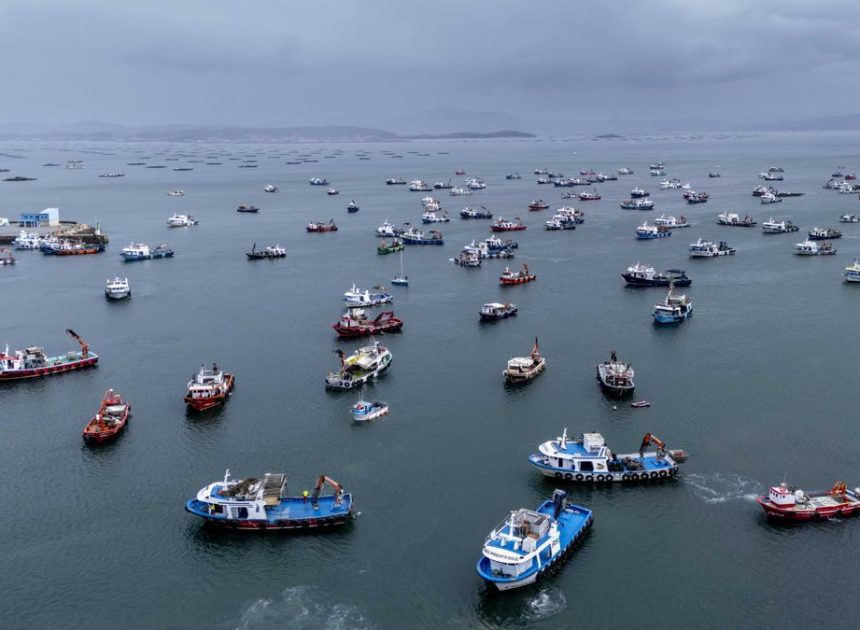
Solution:
[[[552,517],[555,514],[555,504],[552,501],[544,501],[537,509],[537,512]],[[507,577],[494,574],[490,569],[489,559],[482,556],[476,565],[478,575],[488,583],[497,586],[499,590],[508,590],[533,584],[550,571],[557,569],[567,560],[576,548],[576,545],[588,533],[588,530],[591,529],[591,525],[594,523],[594,515],[588,508],[571,503],[559,514],[556,520],[559,528],[560,549],[553,556],[546,559],[541,558],[540,566],[533,565],[525,573],[521,573],[516,577]]]

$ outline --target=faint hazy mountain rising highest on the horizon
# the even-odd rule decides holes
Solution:
[[[408,116],[382,121],[382,127],[405,134],[443,135],[458,129],[491,133],[499,129],[528,129],[526,121],[501,112],[478,112],[458,107],[436,107]]]

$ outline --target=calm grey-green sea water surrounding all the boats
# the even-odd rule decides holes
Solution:
[[[59,205],[62,217],[99,222],[111,238],[99,256],[21,252],[16,266],[0,268],[0,342],[54,354],[74,347],[63,332],[73,328],[101,357],[96,370],[0,387],[3,625],[554,628],[656,616],[670,627],[848,626],[845,585],[860,560],[860,524],[776,527],[755,496],[783,478],[808,489],[860,483],[860,287],[841,281],[860,256],[860,227],[840,226],[837,256],[792,255],[806,229],[860,210],[856,196],[821,188],[838,165],[860,171],[857,140],[3,144],[0,167],[38,180],[0,182],[0,216]],[[365,151],[371,160],[358,159]],[[297,153],[319,162],[286,165]],[[256,158],[259,167],[237,168],[230,157]],[[86,168],[41,166],[71,159]],[[659,190],[647,169],[655,160],[711,201],[687,206],[680,191]],[[167,168],[126,165],[136,161]],[[177,166],[195,170],[173,172]],[[635,174],[599,185],[601,201],[576,203],[586,211],[576,231],[546,232],[550,212],[526,210],[537,197],[560,204],[559,189],[535,184],[539,166],[570,176],[629,166]],[[723,177],[709,180],[717,166]],[[759,205],[750,191],[769,166],[785,168],[780,188],[806,196]],[[377,256],[373,230],[386,218],[418,222],[423,196],[384,180],[448,180],[457,168],[488,188],[438,195],[454,217],[442,226],[445,246],[407,250],[411,285],[394,288],[406,325],[383,339],[394,363],[367,392],[392,413],[356,426],[355,395],[326,392],[323,377],[336,365],[332,351],[358,342],[339,342],[329,325],[353,282],[387,283],[399,270],[396,256]],[[106,171],[127,175],[97,177]],[[523,179],[506,181],[509,171]],[[327,177],[340,196],[310,187],[311,176]],[[263,193],[269,183],[281,192]],[[651,191],[655,211],[619,209],[635,185]],[[172,188],[186,195],[167,197]],[[351,198],[361,206],[355,215],[345,210]],[[242,202],[260,213],[238,214]],[[527,261],[537,282],[503,290],[505,262],[479,270],[449,262],[489,235],[487,222],[456,216],[465,205],[525,219],[511,263]],[[723,210],[760,222],[788,217],[804,231],[719,227]],[[169,230],[173,211],[193,213],[200,225]],[[694,225],[636,241],[636,226],[661,212]],[[305,233],[309,221],[329,218],[337,233]],[[689,260],[687,246],[700,236],[727,240],[738,253]],[[167,242],[176,256],[123,264],[117,254],[132,240]],[[288,258],[248,262],[254,242],[280,243]],[[652,326],[663,290],[625,288],[619,275],[636,261],[687,270],[689,322]],[[104,299],[104,281],[115,274],[128,276],[131,300]],[[496,300],[518,304],[519,316],[479,325],[481,304]],[[505,361],[526,354],[535,336],[546,372],[506,389]],[[594,365],[611,349],[632,362],[637,397],[650,409],[616,406],[600,393]],[[221,410],[189,415],[185,383],[212,361],[236,374],[235,393]],[[129,398],[133,419],[115,444],[87,448],[81,429],[109,387]],[[691,457],[677,481],[662,485],[568,487],[595,513],[584,546],[534,588],[489,592],[474,568],[484,537],[510,509],[551,494],[554,484],[527,457],[564,427],[599,431],[621,451],[636,450],[652,431]],[[361,516],[323,535],[207,529],[183,504],[226,468],[284,471],[296,493],[326,473],[354,493]]]

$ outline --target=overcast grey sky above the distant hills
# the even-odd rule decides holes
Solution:
[[[3,0],[0,123],[860,113],[860,2]]]

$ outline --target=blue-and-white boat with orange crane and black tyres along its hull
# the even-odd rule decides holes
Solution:
[[[651,445],[656,451],[648,451]],[[529,462],[546,477],[578,483],[625,483],[658,481],[678,474],[678,464],[687,460],[682,450],[670,450],[656,435],[646,433],[638,453],[614,453],[600,433],[584,433],[544,442]]]

